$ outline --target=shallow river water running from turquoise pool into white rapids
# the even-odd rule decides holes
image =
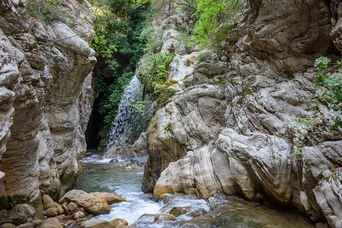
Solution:
[[[83,174],[76,189],[85,192],[116,193],[127,201],[112,204],[110,213],[96,216],[97,219],[110,221],[122,218],[127,220],[129,225],[139,228],[314,227],[310,219],[298,212],[270,208],[259,202],[250,202],[236,196],[217,195],[204,200],[196,196],[169,194],[164,200],[155,201],[152,194],[145,194],[140,190],[143,166],[127,166],[128,161],[109,163],[110,158],[100,159],[100,155],[87,152],[87,157],[81,159]],[[146,159],[146,157],[141,159]],[[188,213],[176,217],[175,221],[168,219],[154,221],[155,215],[169,213],[174,207],[185,207]]]

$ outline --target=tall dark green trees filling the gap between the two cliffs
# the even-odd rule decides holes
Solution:
[[[97,18],[90,48],[96,51],[95,86],[106,130],[116,116],[125,87],[144,53],[151,27],[147,0],[91,0]],[[152,39],[152,38],[151,38]]]

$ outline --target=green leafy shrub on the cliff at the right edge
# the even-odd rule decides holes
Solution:
[[[315,61],[314,66],[317,67],[314,79],[316,86],[315,98],[327,103],[336,112],[336,115],[332,118],[334,124],[331,126],[331,130],[336,131],[338,127],[342,127],[342,59],[337,61],[337,71],[333,73],[326,71],[330,62],[329,58],[323,56]]]

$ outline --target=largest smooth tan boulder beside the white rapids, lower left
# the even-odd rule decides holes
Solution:
[[[108,214],[110,211],[108,203],[104,198],[96,197],[96,195],[88,194],[81,190],[67,192],[59,200],[59,203],[64,202],[75,202],[86,211],[95,215]]]

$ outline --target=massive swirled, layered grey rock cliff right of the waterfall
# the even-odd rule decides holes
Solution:
[[[163,49],[171,50],[184,15],[159,22]],[[329,128],[335,114],[317,104],[324,118],[312,132],[293,121],[312,116],[312,66],[323,55],[340,58],[341,22],[337,0],[248,0],[221,43],[224,55],[198,63],[198,53],[176,50],[192,71],[175,78],[176,94],[148,128],[142,190],[156,198],[239,194],[342,227],[342,131]],[[307,143],[296,160],[299,134]]]

